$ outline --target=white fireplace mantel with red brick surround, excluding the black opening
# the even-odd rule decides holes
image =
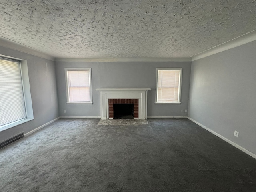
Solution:
[[[114,104],[134,104],[134,118],[147,118],[148,91],[150,88],[101,88],[100,117],[114,118]]]

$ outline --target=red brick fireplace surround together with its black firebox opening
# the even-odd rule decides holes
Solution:
[[[110,119],[132,115],[139,118],[139,99],[108,99]]]

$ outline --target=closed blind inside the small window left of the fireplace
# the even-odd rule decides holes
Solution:
[[[67,70],[68,102],[91,102],[90,71]]]

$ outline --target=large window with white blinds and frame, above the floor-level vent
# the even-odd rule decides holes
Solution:
[[[0,131],[33,119],[27,72],[25,61],[0,58]]]

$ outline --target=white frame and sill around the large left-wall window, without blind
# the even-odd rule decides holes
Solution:
[[[26,110],[26,118],[22,120],[18,120],[9,124],[5,124],[0,126],[0,132],[10,129],[12,127],[18,126],[25,122],[31,121],[34,119],[33,114],[33,107],[32,107],[32,98],[30,92],[30,83],[29,83],[29,76],[28,76],[28,63],[26,60],[13,58],[9,56],[0,55],[1,58],[12,59],[20,61],[20,71],[21,71],[21,80],[22,80],[22,87],[23,87],[23,95],[24,95],[24,102],[25,102],[25,110]]]

